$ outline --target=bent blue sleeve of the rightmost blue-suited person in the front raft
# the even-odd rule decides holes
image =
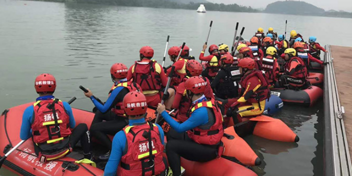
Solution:
[[[193,129],[201,124],[208,122],[208,113],[206,107],[199,107],[194,110],[191,116],[185,120],[183,123],[178,123],[164,110],[161,112],[162,117],[165,121],[170,124],[170,126],[177,132],[184,132],[189,129]]]

